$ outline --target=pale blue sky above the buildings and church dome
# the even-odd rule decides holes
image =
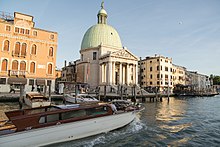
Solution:
[[[102,0],[0,0],[0,11],[34,16],[58,32],[57,67],[80,58],[83,35]],[[105,0],[108,24],[137,57],[162,55],[201,74],[220,75],[220,0]]]

